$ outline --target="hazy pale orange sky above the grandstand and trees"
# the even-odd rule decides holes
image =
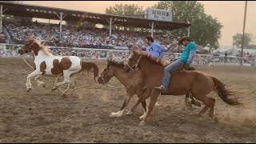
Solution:
[[[232,36],[238,33],[242,34],[245,1],[198,2],[204,5],[206,14],[210,14],[222,23],[222,38],[218,40],[220,46],[231,46]],[[115,6],[115,4],[137,4],[146,9],[146,7],[154,6],[158,1],[23,1],[23,3],[104,14],[106,7]],[[256,1],[248,1],[245,33],[253,34],[253,43],[256,44],[256,18],[254,14],[256,14]],[[192,31],[190,31],[190,33],[192,33]]]

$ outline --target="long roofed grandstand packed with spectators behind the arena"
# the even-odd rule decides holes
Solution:
[[[55,54],[77,55],[82,58],[100,59],[112,55],[117,59],[126,59],[132,46],[144,46],[144,38],[147,35],[154,35],[154,39],[165,49],[167,55],[178,57],[183,47],[178,46],[178,38],[174,38],[170,33],[160,30],[176,30],[188,28],[191,24],[180,22],[158,21],[146,18],[130,18],[108,14],[90,13],[80,10],[66,10],[46,6],[34,6],[27,4],[0,2],[2,7],[1,15],[14,15],[26,17],[24,20],[5,20],[2,23],[2,34],[0,40],[2,44],[0,54],[15,55],[18,45],[24,44],[30,37],[38,38]],[[60,24],[33,22],[32,18],[47,18],[60,20]],[[2,19],[1,19],[2,20]],[[62,26],[62,21],[68,25]],[[90,22],[92,27],[83,24]],[[95,24],[102,24],[105,28],[96,28]],[[145,31],[118,30],[115,26],[144,28]],[[154,30],[155,29],[155,30]],[[223,63],[224,58],[210,57],[207,50],[200,49],[195,63],[207,64],[209,62]],[[127,54],[128,53],[128,54]],[[239,59],[239,58],[234,58]],[[225,61],[239,62],[238,60]],[[245,62],[254,63],[254,58],[249,58]],[[251,64],[254,65],[254,64]]]

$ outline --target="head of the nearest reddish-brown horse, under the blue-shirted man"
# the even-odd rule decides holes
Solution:
[[[142,58],[142,52],[139,50],[133,50],[133,54],[129,58],[129,61],[126,62],[126,65],[123,67],[123,70],[126,73],[128,73],[130,70],[134,70],[138,66],[141,58]]]

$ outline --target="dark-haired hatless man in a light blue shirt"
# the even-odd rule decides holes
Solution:
[[[146,37],[145,43],[148,45],[146,47],[146,53],[149,54],[150,58],[161,60],[163,58],[163,48],[151,36]]]

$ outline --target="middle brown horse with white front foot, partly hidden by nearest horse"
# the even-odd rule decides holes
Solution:
[[[142,79],[142,73],[139,68],[136,68],[135,70],[131,70],[129,73],[125,73],[122,69],[124,67],[124,62],[115,62],[112,60],[107,59],[107,66],[102,71],[102,74],[98,77],[98,82],[102,85],[106,84],[110,81],[111,78],[116,77],[118,78],[119,82],[122,83],[122,85],[126,88],[126,99],[122,104],[121,109],[116,112],[112,113],[110,117],[121,117],[124,109],[126,108],[127,104],[130,102],[130,98],[136,94],[138,98],[142,97],[142,94],[146,91],[146,89],[143,89],[145,87],[145,82]],[[196,101],[192,97],[192,102],[188,104],[189,102],[189,94],[186,94],[186,105],[190,106],[190,104],[194,104],[195,106],[201,106],[200,102]],[[142,106],[144,110],[144,114],[140,117],[143,118],[146,114],[146,101],[142,100]],[[138,106],[139,102],[136,103],[128,112],[127,114],[133,114],[134,110]]]

